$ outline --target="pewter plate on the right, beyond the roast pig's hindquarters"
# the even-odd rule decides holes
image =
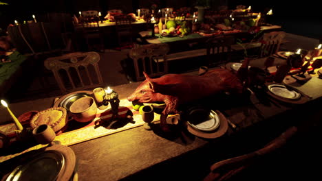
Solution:
[[[268,86],[268,90],[270,90],[271,93],[285,99],[299,99],[301,97],[301,94],[294,90],[288,90],[286,86],[280,84],[271,84]]]

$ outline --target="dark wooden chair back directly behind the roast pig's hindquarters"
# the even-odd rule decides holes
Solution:
[[[206,41],[208,66],[230,61],[231,45],[235,43],[233,36],[213,37]]]

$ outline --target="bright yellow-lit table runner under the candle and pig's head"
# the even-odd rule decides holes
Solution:
[[[96,127],[95,123],[96,123],[96,121],[99,121],[99,119],[101,119],[103,121],[108,121],[108,119],[111,118],[110,106],[108,106],[108,108],[104,111],[98,110],[98,114],[96,115],[96,118],[91,123],[88,123],[87,125],[84,125],[83,127],[78,128],[76,130],[69,130],[69,128],[67,127],[67,129],[63,133],[58,134],[56,136],[54,141],[60,141],[62,145],[66,145],[66,146],[74,145],[76,143],[89,141],[94,138],[106,136],[108,134],[114,134],[116,132],[128,130],[131,128],[136,128],[140,125],[143,125],[144,121],[142,120],[140,113],[136,110],[133,110],[131,102],[128,101],[127,99],[121,99],[120,100],[120,107],[119,107],[119,115],[121,117],[126,117],[127,112],[129,110],[131,110],[131,112],[133,113],[133,121],[127,123],[126,125],[124,125],[120,128],[114,129],[112,126],[110,128],[109,127],[105,128],[103,126]],[[175,115],[169,115],[169,117],[173,117],[173,116],[175,116]],[[160,120],[160,114],[154,113],[153,122],[159,121],[159,120]],[[74,123],[76,123],[76,121]],[[82,123],[79,123],[79,124],[82,125]],[[14,123],[0,125],[0,131],[5,132],[6,135],[11,136],[11,137],[14,136],[14,129],[17,129],[16,126],[14,125]],[[12,137],[12,139],[10,141],[15,141],[15,138]],[[14,158],[15,156],[19,156],[25,152],[29,152],[34,149],[40,149],[45,146],[47,146],[47,145],[40,145],[39,144],[39,145],[35,145],[34,147],[30,147],[28,149],[25,149],[25,151],[20,152],[18,154],[1,156],[0,162],[3,162],[3,161],[8,160],[10,158]]]

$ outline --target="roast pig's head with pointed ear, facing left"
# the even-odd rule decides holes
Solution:
[[[148,103],[157,101],[156,98],[158,97],[158,93],[155,93],[153,88],[153,82],[147,73],[144,73],[145,80],[136,88],[136,90],[127,97],[129,101],[138,101],[140,103]]]

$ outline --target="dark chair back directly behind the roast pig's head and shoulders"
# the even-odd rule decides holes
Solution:
[[[168,73],[166,55],[169,45],[166,43],[142,45],[129,51],[129,57],[134,61],[136,80],[144,80],[143,71],[150,77]]]

